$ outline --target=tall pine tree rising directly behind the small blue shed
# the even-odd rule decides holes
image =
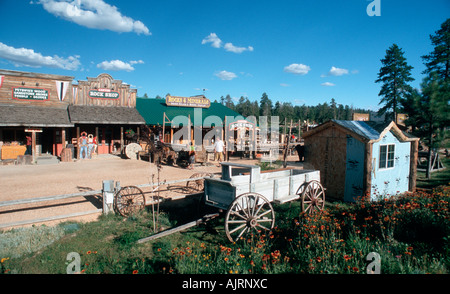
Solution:
[[[411,77],[412,66],[406,63],[404,52],[397,44],[393,44],[386,50],[386,56],[381,60],[382,67],[378,73],[376,83],[383,83],[381,86],[381,96],[379,104],[384,104],[378,111],[378,115],[383,115],[392,110],[392,119],[397,122],[397,113],[400,110],[401,101],[405,99],[405,95],[410,93],[412,88],[408,82],[414,80]]]

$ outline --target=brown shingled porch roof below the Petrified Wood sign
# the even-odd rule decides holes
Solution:
[[[10,127],[73,127],[63,107],[39,107],[27,105],[0,105],[0,126]]]

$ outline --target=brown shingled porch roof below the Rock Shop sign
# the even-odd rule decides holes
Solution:
[[[70,121],[81,124],[145,124],[136,108],[69,105]]]

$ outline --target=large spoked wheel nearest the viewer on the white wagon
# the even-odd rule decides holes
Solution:
[[[275,224],[275,212],[270,202],[261,194],[245,193],[231,203],[225,216],[225,233],[228,240],[236,242],[251,232],[270,231]]]

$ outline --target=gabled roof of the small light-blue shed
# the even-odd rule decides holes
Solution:
[[[403,132],[399,127],[392,121],[390,123],[385,122],[374,122],[374,121],[349,121],[349,120],[336,120],[332,119],[325,122],[314,129],[303,134],[303,137],[313,136],[321,132],[322,130],[337,126],[347,132],[353,133],[355,137],[359,138],[364,142],[377,142],[381,140],[384,135],[391,131],[400,141],[416,141],[419,138]]]

